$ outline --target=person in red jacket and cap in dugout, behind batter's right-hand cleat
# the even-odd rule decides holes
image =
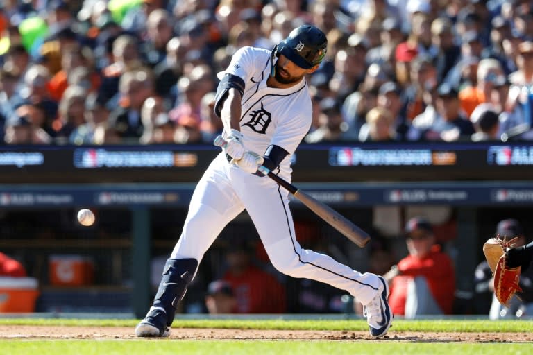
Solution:
[[[409,255],[384,275],[391,284],[392,312],[405,318],[452,313],[452,259],[435,243],[432,225],[425,218],[410,219],[405,232]]]

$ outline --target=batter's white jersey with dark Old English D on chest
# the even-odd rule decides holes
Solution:
[[[288,89],[267,87],[270,56],[267,49],[243,47],[219,76],[230,73],[244,80],[240,125],[246,149],[262,155],[275,144],[287,150],[280,175],[289,178],[291,156],[311,127],[311,98],[305,78]]]

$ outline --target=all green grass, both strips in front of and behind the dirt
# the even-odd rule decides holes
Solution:
[[[43,325],[85,327],[135,327],[138,320],[103,319],[39,319],[0,318],[0,325]],[[174,329],[302,329],[332,331],[367,331],[364,320],[175,320]],[[532,343],[455,343],[454,339],[440,342],[397,340],[394,332],[517,332],[533,333],[531,320],[396,320],[386,339],[342,340],[180,340],[176,338],[117,338],[117,339],[2,339],[0,354],[10,355],[135,355],[135,354],[531,354]],[[457,339],[458,340],[458,339]]]

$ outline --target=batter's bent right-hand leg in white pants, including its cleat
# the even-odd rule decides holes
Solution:
[[[352,270],[328,255],[301,248],[294,234],[287,191],[265,178],[252,176],[246,180],[249,181],[242,184],[246,190],[235,189],[273,266],[286,275],[314,279],[348,291],[365,306],[371,335],[387,334],[392,320],[387,281],[369,272]],[[254,193],[249,193],[250,189]]]

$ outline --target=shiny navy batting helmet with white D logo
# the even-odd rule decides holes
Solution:
[[[310,69],[323,60],[328,40],[319,28],[303,25],[289,33],[289,36],[276,46],[276,55],[285,55],[303,69]]]

